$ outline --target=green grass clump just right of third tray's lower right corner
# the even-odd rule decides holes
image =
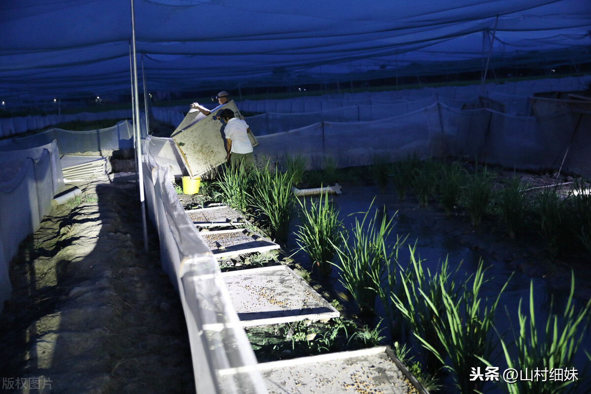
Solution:
[[[384,275],[392,257],[386,239],[394,228],[394,217],[388,220],[384,215],[379,220],[377,210],[374,217],[370,217],[373,203],[374,201],[361,222],[356,217],[353,229],[339,234],[340,246],[336,248],[340,282],[355,299],[361,314],[365,315],[374,313],[378,294],[375,283]],[[351,242],[349,237],[352,237]]]

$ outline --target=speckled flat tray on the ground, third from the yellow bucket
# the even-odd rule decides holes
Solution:
[[[243,327],[340,316],[285,265],[225,272],[222,278]]]

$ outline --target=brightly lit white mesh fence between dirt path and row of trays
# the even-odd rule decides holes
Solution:
[[[198,393],[265,393],[256,357],[239,324],[213,253],[174,191],[168,169],[144,144],[148,217],[158,230],[165,272],[178,289],[189,331]]]

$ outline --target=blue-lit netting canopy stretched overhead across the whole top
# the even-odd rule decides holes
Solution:
[[[591,61],[589,0],[133,4],[136,49],[151,90]],[[1,99],[128,93],[131,20],[131,1],[2,2]]]

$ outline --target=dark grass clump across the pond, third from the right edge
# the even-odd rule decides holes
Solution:
[[[515,177],[502,188],[499,193],[501,218],[507,227],[509,237],[515,237],[515,233],[523,225],[527,216],[527,196],[525,196],[526,185]]]

